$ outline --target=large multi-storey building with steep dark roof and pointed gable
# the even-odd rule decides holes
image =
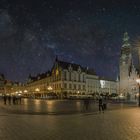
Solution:
[[[64,95],[94,94],[99,92],[99,78],[94,70],[78,64],[56,60],[52,68],[53,92]]]

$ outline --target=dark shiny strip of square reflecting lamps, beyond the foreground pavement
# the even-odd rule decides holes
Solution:
[[[136,107],[136,103],[110,103],[107,104],[108,110]],[[90,100],[89,108],[86,110],[83,100],[38,100],[38,99],[22,99],[21,104],[4,105],[3,100],[0,100],[0,107],[9,113],[13,114],[77,114],[83,112],[97,112],[98,103]]]

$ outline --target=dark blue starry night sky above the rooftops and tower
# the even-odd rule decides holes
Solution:
[[[125,31],[140,35],[139,0],[0,0],[0,73],[25,81],[57,55],[116,79]]]

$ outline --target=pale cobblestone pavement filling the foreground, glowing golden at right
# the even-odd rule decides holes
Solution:
[[[0,140],[140,140],[140,108],[73,115],[1,111]]]

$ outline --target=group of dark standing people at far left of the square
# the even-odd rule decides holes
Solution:
[[[8,102],[9,105],[11,105],[11,103],[13,103],[14,105],[15,104],[21,104],[21,96],[4,95],[3,96],[3,101],[4,101],[5,105],[7,104],[7,102]]]

